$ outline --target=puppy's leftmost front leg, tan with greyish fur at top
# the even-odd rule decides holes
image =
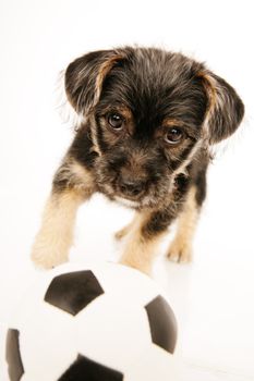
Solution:
[[[68,261],[77,209],[93,192],[89,172],[75,161],[64,161],[55,176],[33,245],[32,259],[37,266],[50,269]]]

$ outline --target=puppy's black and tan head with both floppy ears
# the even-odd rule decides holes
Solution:
[[[96,152],[99,189],[134,207],[162,201],[201,149],[230,136],[244,108],[202,63],[147,48],[96,51],[65,72]]]

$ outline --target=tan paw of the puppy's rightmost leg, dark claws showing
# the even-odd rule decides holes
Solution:
[[[173,262],[189,263],[192,261],[192,245],[181,239],[174,239],[168,249],[167,256]]]

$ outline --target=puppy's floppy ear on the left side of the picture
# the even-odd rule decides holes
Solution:
[[[99,50],[77,58],[65,71],[68,100],[78,114],[87,115],[98,102],[104,79],[124,57],[116,50]]]

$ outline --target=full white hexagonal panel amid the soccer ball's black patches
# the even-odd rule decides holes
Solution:
[[[125,369],[152,345],[144,308],[105,294],[76,317],[78,352],[89,358]],[[108,349],[107,349],[108,348]]]

